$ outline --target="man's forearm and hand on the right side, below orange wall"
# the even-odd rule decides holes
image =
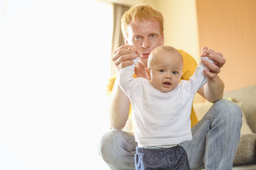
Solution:
[[[208,49],[207,47],[204,47],[203,51],[202,54],[207,54],[210,59],[215,61],[215,64],[202,59],[202,63],[210,71],[207,69],[204,70],[204,74],[208,77],[208,81],[197,92],[209,102],[216,102],[223,98],[224,83],[221,81],[218,73],[220,73],[220,68],[225,64],[225,58],[223,58],[220,52],[214,52],[214,50]]]

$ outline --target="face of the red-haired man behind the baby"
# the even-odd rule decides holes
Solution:
[[[145,66],[150,52],[164,43],[164,36],[161,35],[159,22],[156,20],[135,20],[128,24],[127,34],[125,44],[134,45],[140,50],[140,60]]]

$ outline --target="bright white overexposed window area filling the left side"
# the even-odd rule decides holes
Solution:
[[[0,19],[0,169],[108,169],[113,6],[6,0]]]

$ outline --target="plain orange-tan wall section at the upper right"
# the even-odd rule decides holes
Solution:
[[[256,1],[197,0],[200,47],[227,59],[220,77],[225,90],[256,84]]]

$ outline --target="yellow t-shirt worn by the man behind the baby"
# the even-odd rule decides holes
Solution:
[[[192,58],[192,56],[190,56],[187,52],[185,52],[183,50],[179,50],[179,52],[183,58],[183,69],[182,69],[183,75],[182,75],[181,79],[188,81],[189,77],[191,77],[193,75],[193,73],[195,72],[197,63],[196,63],[195,59]],[[134,75],[133,77],[136,78],[136,75]],[[115,80],[116,80],[116,77],[112,77],[111,79],[108,80],[108,84],[107,84],[108,95],[111,94],[111,91],[115,84]],[[129,110],[129,117],[130,116],[131,116],[131,105],[130,105],[130,110]],[[191,120],[191,127],[193,127],[198,122],[198,119],[196,117],[193,107],[191,109],[190,120]]]

